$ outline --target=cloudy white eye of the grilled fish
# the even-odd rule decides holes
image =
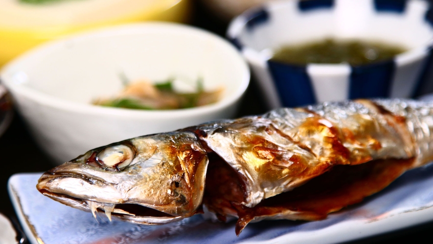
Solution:
[[[121,170],[129,166],[134,159],[134,152],[129,146],[110,146],[96,155],[96,161],[103,167]]]

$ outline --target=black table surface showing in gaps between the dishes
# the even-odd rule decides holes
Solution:
[[[200,2],[193,1],[193,5],[194,10],[190,24],[224,37],[227,23],[221,22],[214,17]],[[252,80],[240,106],[238,117],[264,112],[266,112],[266,108],[263,105],[263,100],[259,95],[254,80]],[[8,178],[12,174],[19,172],[46,171],[52,168],[53,164],[32,139],[25,122],[23,122],[23,119],[16,111],[14,111],[14,119],[9,128],[0,137],[0,155],[0,164],[3,167],[3,170],[0,171],[0,213],[17,223],[17,217],[7,193]],[[350,243],[431,243],[432,232],[433,221]]]

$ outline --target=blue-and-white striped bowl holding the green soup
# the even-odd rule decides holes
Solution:
[[[425,0],[283,0],[235,18],[228,39],[251,65],[269,108],[329,100],[413,97],[433,91],[433,11]],[[369,65],[289,65],[286,45],[336,40],[397,44],[407,51]]]

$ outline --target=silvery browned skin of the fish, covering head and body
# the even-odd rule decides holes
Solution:
[[[165,223],[189,217],[199,211],[202,200],[220,219],[239,218],[243,211],[240,209],[254,208],[265,199],[290,192],[335,166],[356,166],[387,159],[409,160],[404,163],[405,170],[424,165],[433,159],[433,103],[402,99],[325,102],[303,108],[280,108],[262,116],[208,122],[125,142],[136,151],[133,162],[125,169],[105,171],[86,163],[93,152],[112,145],[100,147],[47,171],[39,180],[38,190],[87,211],[91,209],[85,202],[93,201],[140,204],[170,215],[114,216],[138,223]],[[185,148],[197,153],[185,155]],[[186,160],[189,164],[184,163],[185,158],[190,159]],[[217,160],[224,161],[235,172],[230,176],[237,188],[230,186],[232,195],[226,195],[228,189],[222,189],[222,193],[203,198],[208,158],[219,158]],[[172,171],[166,171],[167,164]],[[138,170],[137,166],[141,165],[142,169]],[[94,183],[59,172],[83,174],[82,178]],[[86,174],[89,172],[94,173]],[[179,172],[187,177],[180,177]],[[209,177],[213,173],[217,174],[218,169],[207,172]],[[395,173],[395,177],[399,173]],[[153,180],[144,180],[143,175]],[[167,194],[174,190],[172,182],[176,177],[182,179],[182,187],[188,186],[179,193],[186,201],[176,201]],[[88,193],[77,193],[82,189],[72,185],[78,183],[60,186],[65,179],[87,184]],[[306,215],[287,209],[277,214],[244,218],[236,232],[239,234],[249,221],[318,218],[315,213]]]

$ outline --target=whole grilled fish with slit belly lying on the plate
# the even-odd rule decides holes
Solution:
[[[320,220],[433,159],[433,103],[280,108],[125,140],[44,173],[37,189],[82,210],[161,224],[201,213]]]

